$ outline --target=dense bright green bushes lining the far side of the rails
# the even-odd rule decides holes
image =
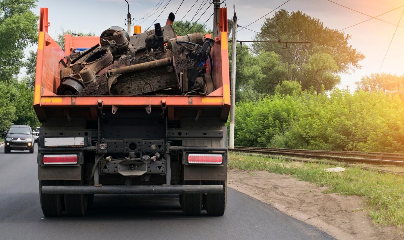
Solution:
[[[273,96],[236,104],[235,145],[403,151],[404,103],[398,96],[299,87],[284,81]]]

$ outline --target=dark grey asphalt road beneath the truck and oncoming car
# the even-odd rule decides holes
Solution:
[[[223,217],[185,217],[177,195],[97,195],[84,217],[45,218],[36,156],[0,147],[0,239],[333,239],[233,189]]]

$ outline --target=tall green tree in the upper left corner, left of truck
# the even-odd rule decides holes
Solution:
[[[11,83],[19,74],[24,49],[38,38],[36,0],[0,0],[0,81]]]

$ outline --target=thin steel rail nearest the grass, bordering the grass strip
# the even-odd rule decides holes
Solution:
[[[234,149],[229,149],[229,150],[230,150],[230,152],[234,152]],[[388,171],[388,170],[384,170],[384,169],[372,168],[372,167],[367,167],[367,166],[358,166],[358,165],[348,164],[345,162],[328,162],[328,161],[302,159],[302,158],[288,158],[288,157],[284,157],[284,156],[273,156],[273,155],[268,155],[268,154],[250,154],[250,153],[246,153],[246,152],[237,152],[237,154],[247,155],[247,156],[257,156],[257,157],[263,157],[263,158],[278,158],[278,159],[284,159],[286,161],[315,162],[315,163],[324,163],[324,164],[330,164],[330,165],[336,165],[336,166],[360,167],[361,169],[364,169],[364,170],[377,171],[380,173],[389,173],[389,174],[404,176],[404,172],[396,173],[396,172]],[[358,162],[356,162],[356,163],[358,163]]]

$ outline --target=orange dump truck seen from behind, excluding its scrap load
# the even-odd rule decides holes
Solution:
[[[185,215],[224,214],[226,8],[220,19],[204,68],[213,82],[209,94],[60,95],[65,57],[100,37],[66,35],[63,51],[48,34],[48,9],[41,8],[34,109],[42,122],[38,178],[46,217],[84,215],[94,194],[179,194]]]

